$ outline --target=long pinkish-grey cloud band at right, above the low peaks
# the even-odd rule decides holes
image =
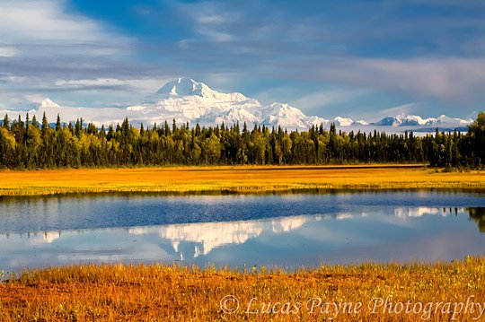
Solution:
[[[485,85],[483,58],[348,58],[314,69],[313,75],[326,81],[439,100],[477,100]]]

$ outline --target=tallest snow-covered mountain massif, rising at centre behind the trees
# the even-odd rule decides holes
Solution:
[[[166,83],[146,97],[141,105],[128,107],[128,111],[203,126],[246,122],[248,126],[307,128],[328,122],[322,117],[307,117],[300,109],[286,103],[275,102],[263,106],[260,101],[247,98],[240,92],[221,93],[190,78]]]

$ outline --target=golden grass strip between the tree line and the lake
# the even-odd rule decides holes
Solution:
[[[300,189],[482,187],[485,187],[485,172],[444,173],[404,165],[0,171],[0,196],[98,192],[257,193]]]

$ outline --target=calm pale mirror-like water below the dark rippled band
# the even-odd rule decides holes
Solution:
[[[460,216],[441,218],[439,214],[448,211]],[[18,269],[178,260],[239,265],[256,257],[275,265],[345,263],[359,258],[453,259],[483,248],[476,228],[470,232],[465,213],[463,208],[356,207],[350,212],[237,222],[0,234],[0,265]]]

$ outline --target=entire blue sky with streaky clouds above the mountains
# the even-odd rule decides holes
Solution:
[[[308,115],[470,117],[485,2],[0,1],[0,108],[123,106],[175,77]]]

